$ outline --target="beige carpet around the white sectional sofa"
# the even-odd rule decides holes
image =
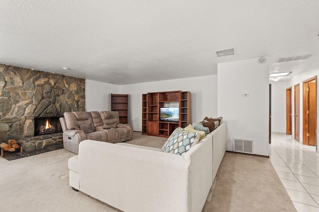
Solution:
[[[129,142],[161,147],[165,140],[135,132]],[[58,149],[12,161],[0,157],[0,211],[118,212],[71,189],[67,161],[73,155]],[[291,212],[295,208],[268,158],[227,152],[203,211]]]

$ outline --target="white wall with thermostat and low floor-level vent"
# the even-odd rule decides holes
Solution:
[[[254,141],[254,153],[269,155],[269,63],[257,58],[217,65],[218,116],[227,123],[226,149],[233,139]],[[242,94],[249,93],[249,97]]]

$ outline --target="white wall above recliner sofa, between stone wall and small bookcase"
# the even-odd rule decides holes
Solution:
[[[111,110],[111,93],[120,93],[120,86],[110,83],[85,80],[86,111]]]

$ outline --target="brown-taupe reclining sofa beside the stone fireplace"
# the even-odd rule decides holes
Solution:
[[[103,111],[101,114],[108,116],[103,115],[102,119],[97,111],[65,112],[60,118],[64,148],[78,154],[79,143],[87,139],[112,143],[132,140],[132,126],[120,124],[117,111]]]

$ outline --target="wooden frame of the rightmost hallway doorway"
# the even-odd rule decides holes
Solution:
[[[316,94],[316,99],[315,99],[315,111],[316,111],[316,123],[315,126],[309,126],[309,118],[308,118],[308,110],[309,110],[309,93],[308,93],[308,88],[309,82],[315,81],[316,83],[316,89],[315,89],[315,94]],[[309,127],[314,128],[314,131],[316,132],[317,129],[317,76],[311,77],[305,81],[303,81],[303,144],[304,145],[309,145]],[[317,135],[316,135],[316,144],[317,144]],[[315,145],[316,145],[315,144]]]

